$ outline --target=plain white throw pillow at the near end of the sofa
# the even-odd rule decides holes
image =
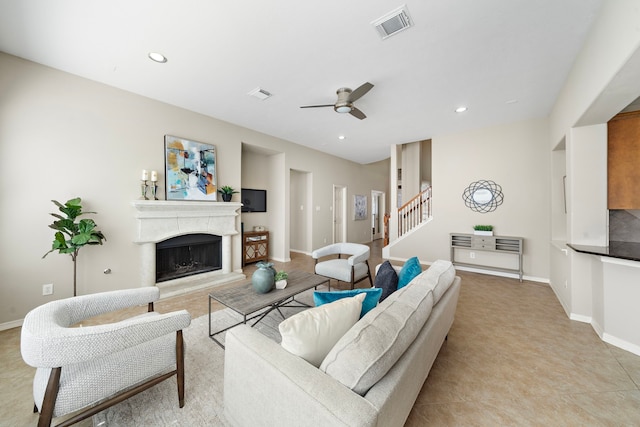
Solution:
[[[320,366],[329,350],[358,321],[365,294],[313,307],[285,319],[278,325],[282,347]]]

